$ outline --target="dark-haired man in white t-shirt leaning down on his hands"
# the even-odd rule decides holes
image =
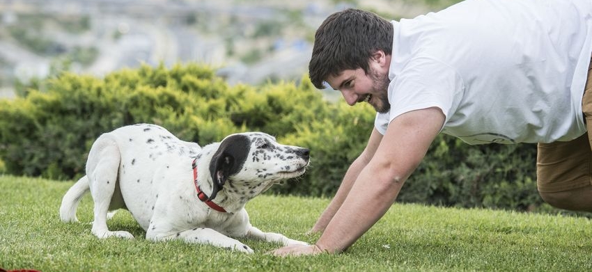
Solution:
[[[275,255],[351,246],[440,132],[469,144],[539,143],[543,199],[592,211],[592,91],[584,95],[592,1],[467,0],[400,22],[350,9],[329,16],[315,38],[313,84],[328,83],[352,106],[371,104],[375,127],[311,230],[320,239]]]

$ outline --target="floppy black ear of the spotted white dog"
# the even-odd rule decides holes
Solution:
[[[212,175],[212,195],[214,199],[224,186],[226,179],[242,168],[247,159],[251,144],[247,136],[235,134],[228,136],[220,143],[218,150],[210,161],[210,175]]]

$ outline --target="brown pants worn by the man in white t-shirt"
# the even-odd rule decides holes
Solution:
[[[555,195],[563,195],[563,198],[570,198],[570,194],[564,192],[592,192],[592,61],[582,97],[582,111],[586,119],[588,133],[569,142],[538,144],[537,186],[540,195],[543,198],[546,196],[545,200],[554,198],[554,193]],[[592,194],[586,193],[586,195],[579,194],[577,198],[582,200],[585,198],[587,206],[592,202]],[[547,200],[547,202],[550,201]],[[550,203],[554,205],[554,203]],[[568,208],[570,207],[571,205],[568,205]]]

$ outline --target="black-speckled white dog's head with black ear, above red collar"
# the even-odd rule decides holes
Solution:
[[[274,183],[304,174],[309,150],[281,145],[269,134],[232,134],[221,141],[210,161],[214,199],[228,181],[233,192],[252,198]]]

